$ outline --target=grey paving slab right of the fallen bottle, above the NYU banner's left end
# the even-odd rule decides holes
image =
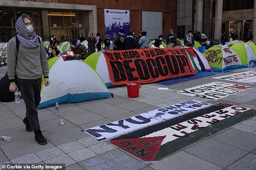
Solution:
[[[92,121],[104,119],[105,117],[85,110],[84,113],[71,115],[71,116],[67,116],[64,118],[75,125],[82,125],[82,124],[89,123]]]

